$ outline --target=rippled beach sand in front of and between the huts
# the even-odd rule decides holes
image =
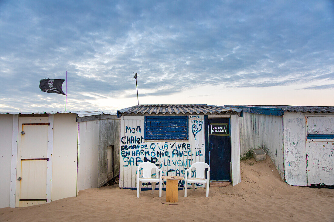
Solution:
[[[334,189],[290,186],[270,158],[241,162],[241,183],[179,191],[179,205],[117,185],[79,191],[77,197],[25,208],[1,208],[0,221],[334,221]]]

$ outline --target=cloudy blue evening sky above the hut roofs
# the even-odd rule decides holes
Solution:
[[[0,111],[334,106],[334,1],[0,0]]]

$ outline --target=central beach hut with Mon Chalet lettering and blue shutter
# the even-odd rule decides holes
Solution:
[[[136,187],[136,169],[142,162],[155,163],[163,175],[174,176],[185,176],[194,162],[206,162],[211,185],[240,182],[241,109],[206,104],[137,105],[118,110],[117,115],[121,188]],[[179,185],[184,186],[184,181]]]

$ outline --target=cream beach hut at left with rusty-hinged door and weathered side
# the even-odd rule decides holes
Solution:
[[[0,113],[0,207],[76,196],[119,174],[119,119],[111,113]]]

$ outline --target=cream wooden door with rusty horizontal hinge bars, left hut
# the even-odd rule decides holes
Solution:
[[[46,203],[48,118],[19,118],[16,207]],[[24,132],[24,134],[21,133]]]

